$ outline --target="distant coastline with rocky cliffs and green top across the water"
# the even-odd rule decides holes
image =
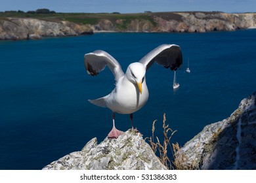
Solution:
[[[56,13],[0,12],[0,40],[41,39],[104,32],[203,33],[255,29],[256,13],[118,12]]]

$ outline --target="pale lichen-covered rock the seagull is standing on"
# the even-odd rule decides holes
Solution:
[[[87,142],[81,151],[72,152],[43,168],[43,170],[53,169],[156,170],[166,167],[161,164],[140,133],[129,129],[117,139],[106,137],[100,144],[97,144],[95,137]]]

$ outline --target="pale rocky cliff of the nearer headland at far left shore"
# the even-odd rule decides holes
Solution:
[[[93,33],[88,25],[49,22],[33,18],[0,19],[0,40],[41,39]]]

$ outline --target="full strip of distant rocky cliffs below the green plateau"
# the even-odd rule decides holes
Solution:
[[[141,16],[128,14],[123,18],[106,17],[100,18],[95,24],[86,25],[33,18],[0,18],[0,40],[75,36],[92,34],[93,31],[202,33],[256,27],[256,13],[156,12]]]

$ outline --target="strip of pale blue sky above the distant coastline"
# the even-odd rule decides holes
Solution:
[[[256,12],[255,0],[0,0],[0,11],[37,10],[55,12]]]

